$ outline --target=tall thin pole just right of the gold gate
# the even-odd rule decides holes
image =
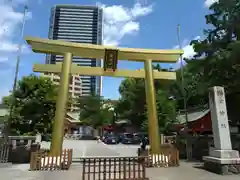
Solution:
[[[179,44],[179,49],[182,50],[182,44],[180,40],[180,24],[177,25],[177,37],[178,37],[178,44]],[[186,155],[187,155],[187,160],[190,160],[191,157],[189,157],[189,136],[188,136],[188,112],[187,112],[187,92],[184,88],[184,64],[183,64],[183,56],[181,54],[180,56],[180,64],[181,64],[181,86],[182,86],[182,94],[183,94],[183,103],[184,103],[184,114],[185,114],[185,135],[186,135]]]

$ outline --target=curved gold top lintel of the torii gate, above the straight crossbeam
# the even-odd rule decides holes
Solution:
[[[65,54],[72,53],[74,56],[84,58],[103,59],[105,50],[118,51],[119,60],[141,61],[152,60],[153,62],[175,63],[182,50],[158,50],[158,49],[135,49],[117,48],[113,46],[103,46],[85,43],[73,43],[62,40],[49,40],[35,37],[25,37],[32,50],[36,53]]]

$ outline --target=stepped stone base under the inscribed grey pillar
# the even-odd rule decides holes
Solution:
[[[208,171],[228,175],[240,174],[239,152],[235,150],[213,150],[203,157],[204,168]]]

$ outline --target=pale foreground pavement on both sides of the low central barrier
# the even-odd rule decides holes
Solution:
[[[150,180],[239,180],[239,175],[221,176],[195,168],[194,163],[181,162],[176,168],[148,168],[147,177]],[[73,164],[69,171],[29,172],[26,165],[14,165],[1,168],[1,178],[4,180],[81,180],[80,164]]]

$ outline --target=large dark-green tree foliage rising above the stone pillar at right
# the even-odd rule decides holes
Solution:
[[[210,7],[205,16],[209,29],[204,30],[205,38],[193,40],[196,55],[186,59],[184,69],[184,85],[188,106],[196,106],[208,102],[208,88],[223,86],[227,94],[240,92],[240,0],[219,0]],[[180,70],[178,80],[171,89],[178,99],[182,99]],[[179,107],[183,108],[182,101]]]

